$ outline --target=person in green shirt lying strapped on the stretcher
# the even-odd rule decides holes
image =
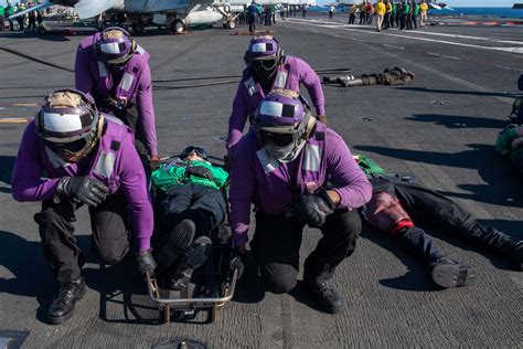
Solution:
[[[192,272],[209,257],[209,236],[225,220],[221,189],[227,178],[224,169],[207,161],[205,149],[194,146],[152,171],[158,190],[154,254],[171,289],[186,287]]]

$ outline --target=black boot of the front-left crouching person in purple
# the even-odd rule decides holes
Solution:
[[[58,325],[73,316],[76,302],[85,295],[85,282],[81,276],[72,282],[62,283],[60,295],[53,300],[49,308],[49,320],[53,325]]]

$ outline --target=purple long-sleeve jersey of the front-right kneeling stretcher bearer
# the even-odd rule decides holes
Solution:
[[[267,214],[282,215],[285,207],[296,203],[310,188],[324,187],[329,181],[340,195],[338,209],[353,210],[364,205],[372,195],[372,186],[354,161],[349,147],[332,129],[325,133],[324,161],[322,172],[314,182],[301,171],[305,150],[291,162],[278,162],[278,167],[267,173],[259,161],[262,144],[256,133],[250,131],[239,142],[231,179],[231,226],[234,244],[247,242],[250,219],[250,203],[256,198],[259,210]],[[309,142],[310,140],[308,140]],[[322,160],[323,161],[323,160]],[[292,179],[292,180],[291,180]],[[299,197],[293,198],[292,186],[297,186]]]

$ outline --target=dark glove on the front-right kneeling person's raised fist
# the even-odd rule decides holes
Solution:
[[[334,212],[334,202],[329,198],[327,191],[321,188],[314,194],[301,199],[295,209],[295,216],[310,228],[320,228],[325,223],[327,216]]]

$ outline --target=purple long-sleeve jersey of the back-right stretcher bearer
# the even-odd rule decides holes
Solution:
[[[286,81],[278,78],[279,72],[287,72]],[[253,78],[253,85],[249,86],[249,80]],[[282,86],[278,84],[281,83]],[[297,93],[300,92],[300,84],[306,86],[309,92],[312,105],[317,115],[325,114],[325,98],[321,87],[318,74],[310,67],[307,62],[295,56],[286,56],[284,64],[278,65],[276,78],[273,88],[287,88]],[[227,154],[234,156],[236,146],[242,138],[247,117],[254,115],[258,104],[264,99],[265,92],[262,86],[254,81],[250,68],[246,67],[243,73],[233,102],[233,112],[228,119],[228,136],[226,141]]]

